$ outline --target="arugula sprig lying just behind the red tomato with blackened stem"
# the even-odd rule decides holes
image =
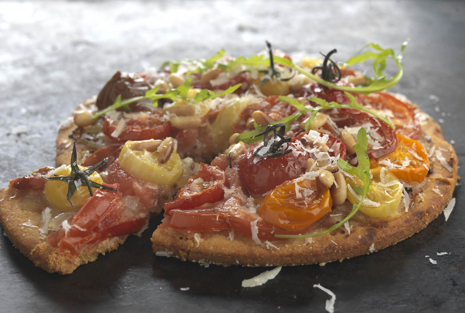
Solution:
[[[304,114],[306,112],[313,112],[312,116],[310,116],[308,118],[308,120],[306,121],[306,123],[305,123],[305,130],[308,130],[310,128],[310,125],[313,122],[313,119],[315,118],[315,116],[316,116],[316,114],[317,114],[317,112],[319,110],[335,109],[335,108],[348,108],[348,109],[357,109],[357,110],[360,110],[360,111],[365,111],[365,112],[373,115],[374,117],[379,118],[380,120],[386,122],[386,124],[391,126],[392,129],[395,129],[395,126],[389,120],[389,117],[380,116],[378,113],[376,113],[376,112],[374,112],[374,111],[360,105],[357,102],[357,100],[355,99],[355,97],[352,96],[347,91],[344,91],[344,93],[350,100],[349,104],[339,104],[339,103],[334,102],[334,101],[327,102],[325,99],[310,97],[310,98],[308,98],[309,101],[312,101],[312,102],[315,102],[316,104],[319,104],[319,106],[317,106],[317,107],[310,107],[310,108],[306,108],[304,106],[304,104],[301,104],[295,98],[280,96],[280,97],[278,97],[278,101],[283,101],[283,102],[287,102],[288,104],[291,104],[292,106],[296,107],[299,110],[299,112],[296,112],[296,113],[294,113],[292,115],[284,117],[284,118],[280,119],[277,122],[274,122],[274,123],[271,123],[271,124],[268,124],[268,125],[265,125],[265,126],[262,126],[262,127],[259,127],[259,128],[255,127],[255,130],[250,130],[250,131],[243,132],[243,133],[239,134],[239,136],[236,137],[235,141],[236,141],[236,143],[238,143],[239,141],[243,141],[244,143],[253,143],[253,142],[259,141],[261,139],[260,137],[255,137],[255,138],[250,138],[250,137],[258,135],[259,133],[263,132],[266,129],[267,126],[273,125],[273,124],[278,124],[278,123],[284,123],[286,125],[286,131],[287,131],[287,130],[289,130],[289,124],[292,121],[295,121],[302,114]],[[254,125],[255,125],[255,123],[254,123]]]

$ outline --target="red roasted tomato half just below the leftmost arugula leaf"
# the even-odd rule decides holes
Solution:
[[[140,115],[126,121],[123,130],[114,137],[113,132],[117,129],[117,124],[110,117],[105,117],[103,123],[103,133],[116,142],[125,142],[127,140],[148,140],[164,139],[167,137],[172,128],[169,121],[163,121],[161,113],[152,112],[150,115]],[[122,121],[118,122],[121,123]],[[123,122],[124,123],[124,122]]]

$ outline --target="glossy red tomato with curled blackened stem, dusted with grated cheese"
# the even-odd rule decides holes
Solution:
[[[329,156],[339,155],[345,159],[345,145],[338,138],[317,131],[311,131],[308,135],[301,134],[294,138],[289,145],[289,149],[294,151],[284,156],[265,156],[256,159],[253,155],[255,149],[247,152],[246,156],[239,162],[240,175],[247,189],[253,194],[264,194],[279,184],[297,178],[304,173],[306,161],[311,157],[308,150],[313,148],[314,144],[309,136],[313,134],[328,138],[326,145],[334,148],[334,151],[329,152]]]

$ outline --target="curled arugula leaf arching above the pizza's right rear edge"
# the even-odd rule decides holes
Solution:
[[[333,84],[331,82],[324,80],[323,78],[320,78],[318,76],[313,75],[310,72],[307,72],[306,70],[301,68],[299,65],[293,64],[288,59],[275,58],[275,63],[290,66],[297,72],[304,74],[308,78],[311,78],[314,81],[318,82],[319,84],[324,85],[328,88],[339,89],[342,91],[352,91],[352,92],[357,92],[357,93],[362,93],[362,94],[369,94],[372,92],[379,92],[379,91],[384,91],[386,89],[389,89],[392,86],[396,85],[399,82],[400,78],[402,78],[402,75],[404,74],[404,69],[402,67],[402,59],[404,58],[405,46],[407,46],[407,43],[408,41],[405,41],[402,44],[399,55],[395,55],[394,50],[392,49],[389,49],[389,48],[383,49],[379,45],[371,43],[363,47],[363,49],[372,48],[377,52],[365,52],[365,53],[353,56],[347,62],[345,62],[344,64],[345,66],[350,66],[350,65],[361,63],[361,62],[365,62],[369,59],[373,59],[372,71],[373,71],[374,77],[367,78],[367,80],[369,81],[369,85],[363,86],[363,87],[350,87],[350,86],[341,86],[341,85]],[[383,73],[386,67],[387,59],[392,59],[397,65],[397,67],[399,68],[399,72],[397,72],[397,74],[390,79],[387,79],[385,74]]]

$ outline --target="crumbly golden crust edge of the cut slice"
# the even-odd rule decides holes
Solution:
[[[127,235],[108,238],[84,247],[78,257],[47,244],[40,234],[42,211],[46,208],[42,191],[0,190],[0,222],[13,245],[33,263],[49,273],[70,274],[76,267],[97,259],[122,244]],[[25,225],[26,224],[26,225]],[[34,227],[36,226],[36,227]]]

